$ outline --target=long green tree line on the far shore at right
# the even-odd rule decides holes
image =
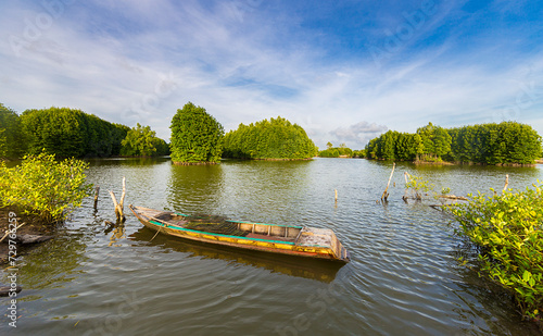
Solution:
[[[432,123],[415,134],[389,130],[371,139],[366,158],[392,161],[532,164],[542,154],[541,136],[517,122],[443,128]]]

